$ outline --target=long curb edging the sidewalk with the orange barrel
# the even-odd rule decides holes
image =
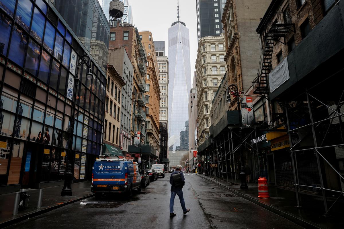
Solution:
[[[277,215],[279,215],[279,216],[282,216],[283,218],[286,218],[286,219],[290,220],[291,222],[294,222],[295,224],[297,224],[297,225],[299,225],[299,226],[301,226],[301,227],[310,228],[310,229],[313,229],[313,228],[315,228],[315,229],[323,229],[322,227],[320,227],[320,226],[317,225],[317,224],[314,224],[314,223],[309,222],[309,221],[307,221],[307,220],[298,218],[297,216],[294,216],[294,215],[292,215],[292,214],[289,214],[289,213],[287,213],[287,212],[284,212],[284,211],[282,211],[282,210],[280,210],[280,209],[278,209],[278,208],[276,208],[276,207],[272,207],[272,206],[270,206],[270,205],[264,204],[264,203],[258,201],[257,199],[255,199],[255,198],[253,198],[253,197],[244,195],[244,194],[242,194],[242,193],[240,193],[240,192],[234,190],[233,188],[226,187],[225,185],[223,185],[223,184],[221,184],[221,183],[218,183],[218,182],[215,182],[215,181],[213,181],[213,180],[210,180],[210,179],[208,179],[208,178],[205,178],[204,176],[201,176],[201,175],[198,175],[198,174],[196,174],[196,175],[197,175],[197,176],[200,176],[201,178],[203,178],[203,179],[205,179],[205,180],[207,180],[207,181],[211,181],[211,182],[217,184],[218,186],[221,186],[221,187],[223,187],[223,188],[226,188],[228,191],[234,193],[235,195],[240,196],[240,197],[243,197],[244,199],[247,199],[248,201],[250,201],[250,202],[252,202],[252,203],[254,203],[254,204],[257,204],[257,205],[259,205],[260,207],[263,207],[263,208],[265,208],[265,209],[267,209],[267,210],[269,210],[269,211],[271,211],[271,212],[273,212],[273,213],[275,213],[275,214],[277,214]]]

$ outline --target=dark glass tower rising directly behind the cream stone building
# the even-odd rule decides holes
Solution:
[[[222,33],[221,17],[226,0],[197,0],[198,41],[205,36],[219,36]]]

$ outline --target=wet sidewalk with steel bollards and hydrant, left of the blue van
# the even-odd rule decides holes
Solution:
[[[90,185],[91,182],[89,181],[72,184],[72,196],[61,196],[63,185],[44,188],[43,202],[40,208],[37,208],[39,189],[28,189],[29,206],[22,211],[19,210],[17,215],[12,215],[15,193],[0,195],[0,228],[92,196],[94,194],[91,192]],[[26,199],[26,206],[27,201],[28,199]]]

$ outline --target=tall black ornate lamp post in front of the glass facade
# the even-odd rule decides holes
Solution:
[[[76,103],[76,90],[79,84],[79,69],[80,66],[86,65],[87,66],[87,73],[86,77],[87,80],[91,80],[93,77],[91,66],[91,58],[88,55],[82,55],[79,58],[79,62],[76,66],[76,74],[74,77],[74,87],[73,87],[73,103],[72,103],[72,118],[69,126],[69,139],[68,139],[68,151],[65,157],[66,160],[66,169],[64,172],[64,185],[61,191],[61,196],[72,196],[72,188],[71,188],[71,179],[72,179],[72,164],[70,163],[72,160],[72,149],[73,149],[73,130],[75,124],[75,103]]]

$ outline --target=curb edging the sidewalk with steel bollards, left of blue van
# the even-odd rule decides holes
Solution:
[[[8,220],[8,221],[5,221],[5,222],[0,223],[0,228],[4,228],[4,227],[11,226],[11,225],[13,225],[13,224],[17,224],[18,222],[24,221],[24,220],[26,220],[26,219],[29,219],[29,218],[32,218],[32,217],[35,217],[35,216],[42,215],[42,214],[47,213],[47,212],[49,212],[49,211],[52,211],[52,210],[55,210],[55,209],[57,209],[57,208],[66,206],[66,205],[68,205],[68,204],[72,204],[72,203],[78,202],[78,201],[80,201],[80,200],[82,200],[82,199],[89,198],[89,197],[92,197],[92,196],[95,196],[95,194],[89,194],[89,195],[87,195],[87,196],[83,196],[83,197],[81,197],[81,198],[73,199],[73,200],[68,201],[68,202],[65,202],[65,203],[63,203],[63,204],[54,205],[54,206],[47,207],[47,208],[44,208],[44,209],[39,210],[39,211],[35,211],[35,212],[32,212],[32,213],[28,213],[28,214],[26,214],[26,215],[20,216],[20,217],[15,218],[15,219],[10,219],[10,220]]]

